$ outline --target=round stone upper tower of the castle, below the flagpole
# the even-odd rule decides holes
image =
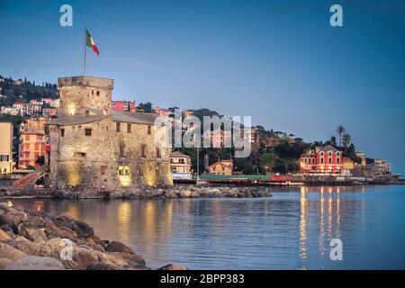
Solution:
[[[110,112],[114,80],[94,76],[58,78],[61,115],[86,115],[86,110]]]

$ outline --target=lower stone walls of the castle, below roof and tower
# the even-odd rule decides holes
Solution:
[[[160,157],[154,144],[155,133],[164,127],[121,122],[116,132],[111,117],[77,125],[51,125],[50,179],[52,186],[67,186],[113,190],[141,186],[171,185],[169,148],[161,148]],[[64,136],[60,136],[64,129]],[[91,136],[85,130],[91,129]],[[142,146],[145,156],[142,157]],[[122,152],[122,155],[121,155]],[[129,175],[119,175],[119,168]]]

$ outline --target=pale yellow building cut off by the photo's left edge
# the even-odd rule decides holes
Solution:
[[[0,174],[9,174],[13,169],[13,124],[0,122]]]

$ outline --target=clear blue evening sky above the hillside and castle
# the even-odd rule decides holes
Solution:
[[[59,25],[71,4],[73,27]],[[341,4],[344,27],[329,25]],[[208,107],[306,140],[338,124],[405,174],[403,1],[4,1],[0,74],[115,79],[114,99]]]

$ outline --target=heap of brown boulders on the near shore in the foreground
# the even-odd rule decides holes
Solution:
[[[68,213],[54,217],[10,206],[0,202],[0,270],[150,269],[130,247],[97,237],[88,224]]]

